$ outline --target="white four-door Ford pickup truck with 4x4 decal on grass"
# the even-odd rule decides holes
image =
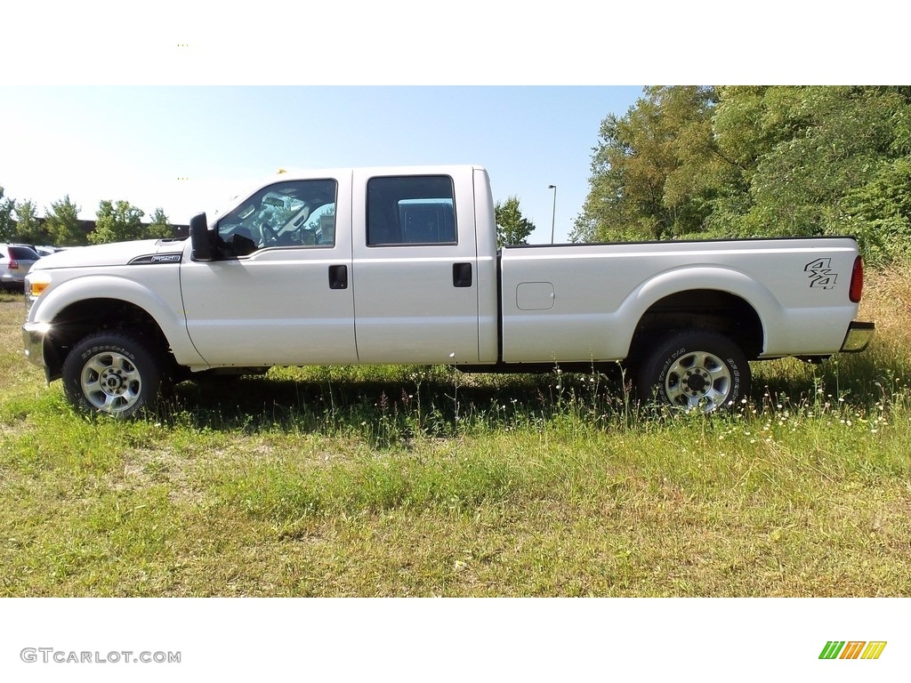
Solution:
[[[851,238],[496,248],[476,166],[281,174],[189,240],[66,250],[28,275],[26,355],[87,412],[273,365],[622,361],[640,398],[739,403],[750,361],[863,351]]]

